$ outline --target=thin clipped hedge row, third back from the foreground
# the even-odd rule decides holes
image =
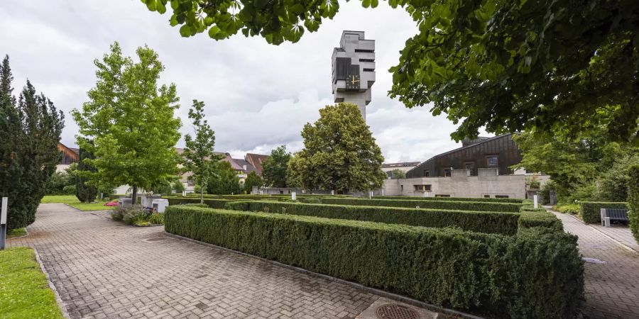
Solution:
[[[354,206],[387,206],[407,208],[437,208],[454,211],[518,212],[521,203],[485,203],[480,201],[430,201],[366,198],[322,198],[322,203]]]

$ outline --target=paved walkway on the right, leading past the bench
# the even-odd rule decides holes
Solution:
[[[638,247],[628,228],[603,228],[599,233],[590,225],[567,214],[553,212],[564,223],[568,233],[579,236],[579,251],[586,258],[606,264],[586,262],[587,318],[639,318],[639,254],[611,240],[611,236],[630,247]],[[632,242],[630,242],[632,240]],[[639,250],[637,250],[639,251]]]

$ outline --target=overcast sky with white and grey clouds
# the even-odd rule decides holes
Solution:
[[[428,107],[410,110],[386,95],[392,83],[388,68],[417,32],[408,13],[385,1],[376,9],[361,8],[360,1],[340,5],[336,18],[324,21],[318,32],[275,46],[244,35],[182,38],[169,26],[168,13],[150,12],[139,0],[2,0],[0,55],[9,55],[16,91],[28,78],[65,111],[62,142],[75,145],[77,125],[69,111],[87,101],[95,84],[94,59],[114,41],[129,56],[146,44],[165,65],[160,82],[178,88],[182,133],[192,131],[187,111],[199,99],[206,103],[216,150],[243,157],[268,154],[278,145],[302,147],[302,126],[332,103],[331,54],[342,30],[364,30],[367,39],[376,40],[377,62],[366,117],[386,162],[423,161],[457,147],[449,137],[455,126],[446,118],[433,117]]]

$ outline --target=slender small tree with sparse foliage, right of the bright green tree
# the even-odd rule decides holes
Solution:
[[[200,199],[203,198],[204,189],[214,172],[215,163],[222,159],[222,155],[216,155],[213,151],[215,146],[215,132],[211,129],[206,118],[204,118],[204,102],[193,100],[193,106],[189,110],[189,118],[193,121],[195,138],[190,134],[184,136],[184,157],[182,164],[184,172],[192,172],[195,184],[200,189]]]

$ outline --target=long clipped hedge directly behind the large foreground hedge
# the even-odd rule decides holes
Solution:
[[[519,213],[488,213],[482,211],[445,211],[436,209],[339,206],[311,203],[234,201],[226,203],[232,211],[286,213],[378,223],[404,224],[424,227],[458,227],[480,233],[514,235],[517,233]]]

